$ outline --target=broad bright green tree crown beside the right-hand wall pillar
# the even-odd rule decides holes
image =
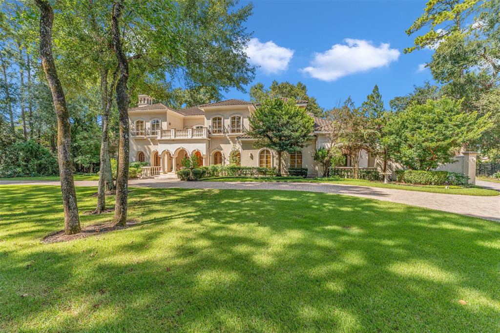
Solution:
[[[449,163],[464,142],[491,127],[489,114],[462,113],[461,100],[443,97],[411,104],[387,125],[394,159],[409,169],[429,170]]]

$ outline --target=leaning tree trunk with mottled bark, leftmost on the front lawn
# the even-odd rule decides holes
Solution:
[[[64,90],[57,76],[54,58],[52,57],[52,22],[54,12],[47,0],[35,0],[40,8],[40,58],[47,78],[55,114],[57,115],[57,161],[64,207],[64,232],[67,234],[80,232],[78,206],[73,182],[73,165],[70,155],[71,128]]]

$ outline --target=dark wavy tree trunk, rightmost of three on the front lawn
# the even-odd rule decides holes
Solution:
[[[114,205],[115,225],[125,225],[127,213],[128,196],[128,62],[121,48],[119,19],[123,9],[123,0],[113,3],[111,16],[111,36],[113,40],[114,52],[118,59],[120,76],[116,83],[116,104],[119,116],[119,145],[118,145],[118,170],[116,172],[116,202]]]

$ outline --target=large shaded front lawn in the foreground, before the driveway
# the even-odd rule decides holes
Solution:
[[[81,212],[95,191],[77,187]],[[63,224],[60,188],[0,193],[0,331],[500,326],[497,222],[326,193],[131,188],[136,226],[42,244]]]

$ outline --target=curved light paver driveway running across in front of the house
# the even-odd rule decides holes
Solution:
[[[59,185],[58,181],[0,180],[1,184]],[[490,182],[478,181],[478,185]],[[494,183],[491,183],[494,184]],[[97,186],[95,180],[75,181],[76,186]],[[179,181],[176,179],[134,179],[130,186],[138,187],[180,187],[215,189],[281,189],[311,192],[325,192],[361,196],[378,200],[405,203],[431,209],[454,212],[474,217],[500,221],[500,195],[472,196],[407,191],[402,189],[378,188],[330,183],[306,182],[257,182],[257,181]],[[496,185],[496,184],[495,184]],[[494,186],[494,185],[493,185]],[[493,187],[492,186],[492,187]],[[500,187],[500,186],[499,186]],[[500,189],[500,188],[497,188]],[[1,191],[1,190],[0,190]]]

